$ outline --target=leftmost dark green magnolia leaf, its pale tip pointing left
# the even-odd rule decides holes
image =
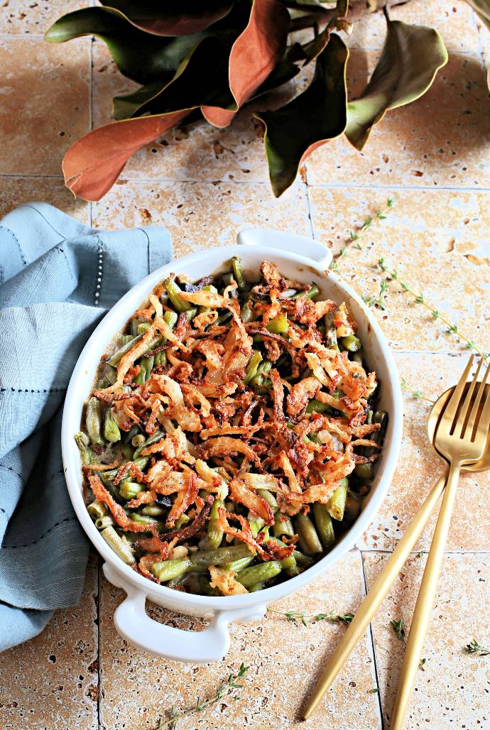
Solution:
[[[168,82],[180,62],[202,38],[161,38],[138,30],[119,12],[104,7],[86,7],[64,15],[49,28],[45,40],[62,43],[94,35],[110,50],[122,74],[141,84]]]

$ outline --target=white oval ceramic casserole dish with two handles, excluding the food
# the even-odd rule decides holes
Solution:
[[[245,596],[198,596],[166,588],[139,575],[112,552],[104,541],[85,507],[82,492],[80,455],[74,441],[80,430],[83,404],[91,391],[102,353],[117,331],[148,297],[153,287],[170,272],[186,274],[192,281],[224,271],[231,256],[240,255],[245,274],[256,277],[261,261],[275,261],[281,273],[291,279],[318,285],[321,297],[345,301],[359,326],[364,357],[380,380],[379,407],[388,412],[388,430],[378,462],[375,480],[364,502],[359,518],[333,550],[301,575],[263,591]],[[113,585],[123,588],[126,599],[115,611],[114,623],[119,634],[131,644],[150,653],[174,661],[202,663],[218,661],[229,649],[228,624],[233,620],[253,621],[262,618],[267,604],[310,583],[329,569],[370,525],[391,482],[399,456],[402,438],[402,393],[399,377],[388,343],[364,302],[339,277],[329,271],[329,250],[313,239],[278,231],[249,228],[238,234],[237,244],[199,251],[171,261],[145,277],[123,296],[93,331],[74,368],[66,392],[61,449],[66,484],[74,510],[91,542],[104,558],[104,575]],[[228,267],[229,268],[229,267]],[[172,611],[210,618],[204,631],[183,631],[153,621],[145,612],[145,601]]]

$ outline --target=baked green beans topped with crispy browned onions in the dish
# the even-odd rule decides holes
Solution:
[[[104,354],[75,438],[88,512],[169,588],[259,591],[349,529],[386,429],[345,303],[240,258],[173,274]]]

